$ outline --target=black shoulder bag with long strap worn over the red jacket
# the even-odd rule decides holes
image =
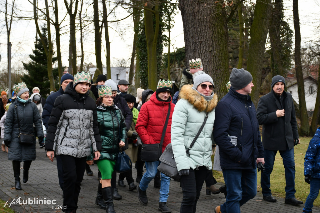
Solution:
[[[167,125],[170,116],[171,104],[168,106],[168,113],[165,119],[164,128],[162,130],[160,144],[143,144],[141,147],[141,161],[154,162],[159,161],[159,157],[162,154],[162,144],[164,141],[165,131],[167,130]]]

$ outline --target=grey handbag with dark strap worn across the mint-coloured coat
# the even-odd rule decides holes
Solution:
[[[204,118],[204,122],[202,123],[198,133],[196,134],[196,137],[193,139],[191,145],[189,146],[189,148],[186,150],[186,153],[188,156],[190,156],[189,154],[189,150],[192,148],[192,146],[195,144],[197,138],[199,137],[202,129],[204,128],[205,122],[208,119],[208,113],[205,115]],[[173,179],[180,179],[180,175],[177,169],[177,164],[176,161],[174,160],[174,155],[173,155],[173,151],[172,151],[172,145],[168,144],[165,147],[164,152],[162,153],[162,155],[160,156],[159,161],[161,162],[160,165],[158,166],[158,170],[162,173],[164,173],[166,176],[169,176]]]

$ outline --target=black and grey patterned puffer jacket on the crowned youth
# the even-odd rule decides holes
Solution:
[[[97,108],[94,100],[79,94],[69,83],[64,94],[54,102],[45,142],[46,150],[74,157],[89,156],[101,150]]]

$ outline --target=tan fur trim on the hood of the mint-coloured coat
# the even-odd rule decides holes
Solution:
[[[198,111],[211,112],[218,104],[218,95],[214,93],[213,98],[207,101],[196,90],[193,90],[192,86],[192,84],[184,85],[179,92],[179,96],[186,99]]]

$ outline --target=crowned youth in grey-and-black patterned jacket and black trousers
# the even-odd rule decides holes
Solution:
[[[89,97],[90,73],[77,73],[74,82],[67,85],[64,94],[54,102],[48,122],[45,150],[53,162],[54,151],[60,156],[63,167],[63,207],[76,212],[80,184],[83,179],[86,157],[91,149],[98,160],[101,138],[98,129],[97,108]]]

